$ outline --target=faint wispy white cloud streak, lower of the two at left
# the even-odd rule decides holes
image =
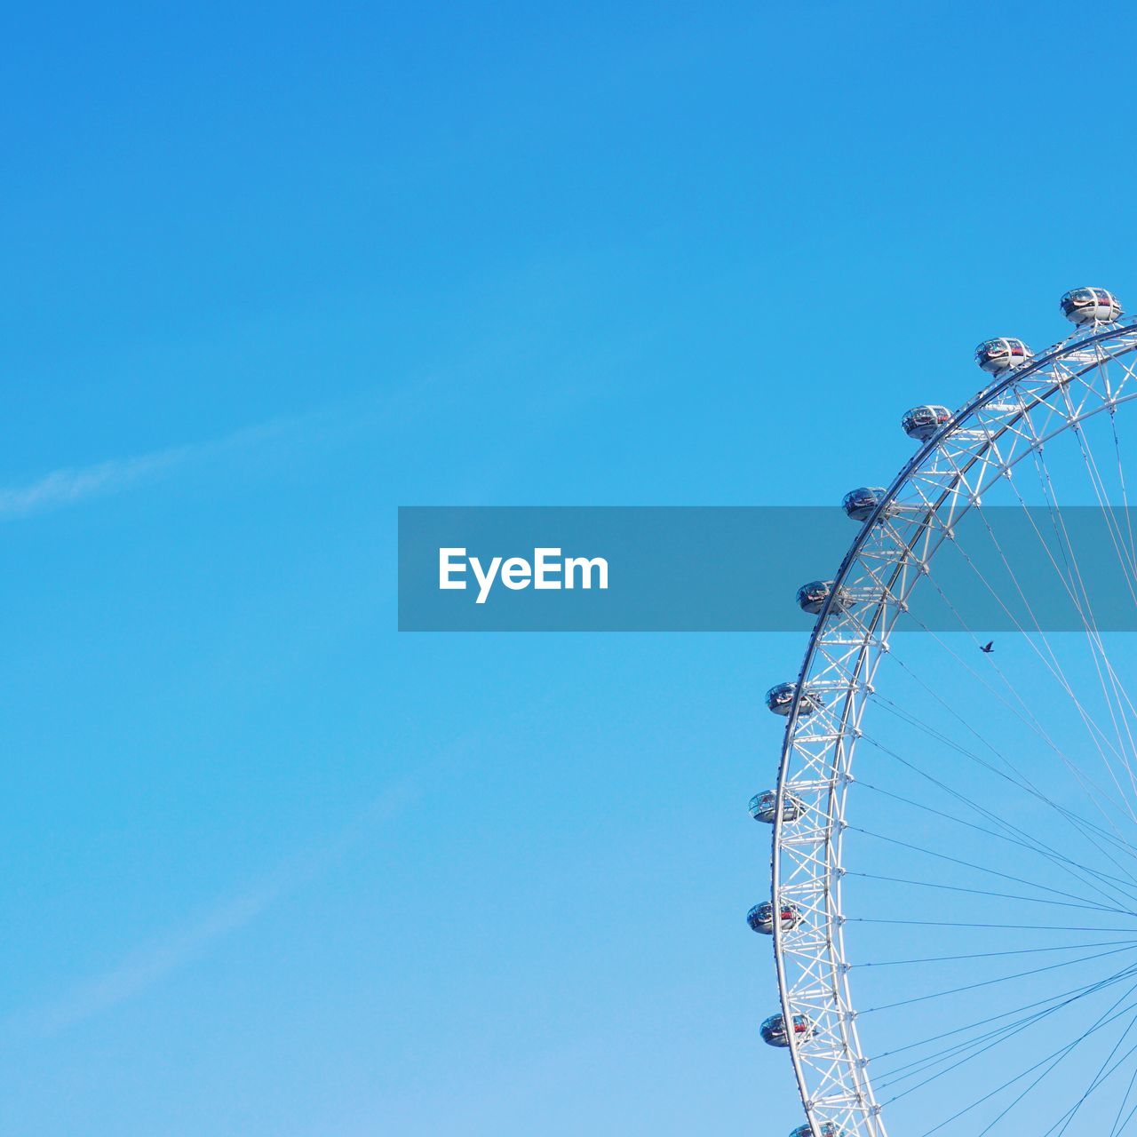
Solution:
[[[10,1041],[56,1035],[141,995],[325,872],[352,845],[401,813],[418,792],[410,780],[389,787],[329,840],[283,862],[251,888],[219,901],[197,919],[130,953],[110,970],[80,984],[59,999],[9,1015],[0,1027],[0,1038]]]

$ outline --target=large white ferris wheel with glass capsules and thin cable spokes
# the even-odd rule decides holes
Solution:
[[[988,340],[977,396],[903,416],[916,453],[845,497],[856,536],[797,595],[815,622],[766,696],[786,729],[747,915],[792,1137],[1137,1134],[1137,637],[1101,630],[1103,604],[1137,609],[1137,319],[1097,288],[1061,308],[1068,339]],[[1128,592],[1095,590],[1103,558]]]

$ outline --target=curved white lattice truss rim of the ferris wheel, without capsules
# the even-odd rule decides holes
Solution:
[[[856,1029],[841,906],[845,807],[872,681],[907,598],[953,526],[998,478],[1057,434],[1137,398],[1137,318],[1076,332],[1004,372],[904,466],[862,525],[818,615],[787,716],[778,771],[771,901],[781,1013],[808,1018],[789,1053],[814,1137],[827,1122],[887,1137]],[[836,600],[841,597],[844,604]],[[804,691],[819,697],[800,713]],[[804,806],[786,820],[787,804]]]

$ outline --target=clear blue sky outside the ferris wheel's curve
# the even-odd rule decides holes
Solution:
[[[396,507],[887,480],[979,339],[1137,305],[1135,30],[9,9],[0,1131],[798,1123],[742,916],[806,622],[399,636]]]

